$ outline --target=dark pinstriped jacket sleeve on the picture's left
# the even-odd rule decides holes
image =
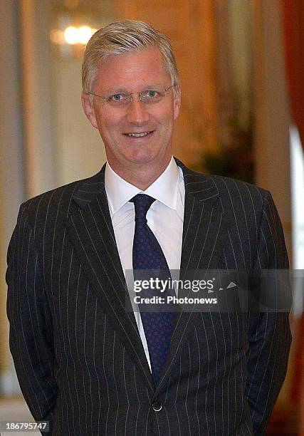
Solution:
[[[23,396],[35,420],[50,422],[57,386],[51,312],[46,300],[33,229],[21,204],[6,271],[9,346]]]

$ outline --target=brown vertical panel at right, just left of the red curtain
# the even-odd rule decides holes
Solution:
[[[278,207],[292,259],[290,206],[290,111],[286,90],[281,11],[273,0],[252,0],[256,115],[256,182]]]

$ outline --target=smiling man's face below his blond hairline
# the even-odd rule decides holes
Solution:
[[[108,96],[164,90],[171,85],[162,54],[153,47],[105,58],[98,68],[92,92]],[[98,97],[90,105],[88,97],[83,95],[85,114],[98,128],[108,161],[118,174],[124,175],[139,165],[154,165],[163,170],[167,166],[172,155],[174,120],[180,106],[179,89],[176,90],[175,98],[171,88],[159,103],[153,104],[141,102],[139,95],[134,94],[125,107],[113,107]],[[130,135],[139,133],[147,135]]]

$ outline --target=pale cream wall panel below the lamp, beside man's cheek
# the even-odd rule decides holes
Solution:
[[[106,159],[99,132],[83,113],[81,63],[78,58],[53,59],[56,185],[95,174]]]

